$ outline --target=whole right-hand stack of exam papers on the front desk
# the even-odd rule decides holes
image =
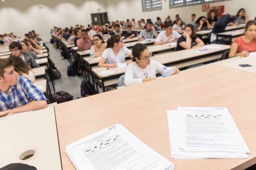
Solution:
[[[167,111],[175,159],[248,158],[243,137],[223,107],[178,107]]]

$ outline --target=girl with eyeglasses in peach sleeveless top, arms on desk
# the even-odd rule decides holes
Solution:
[[[93,52],[94,57],[100,57],[103,51],[106,49],[105,42],[101,35],[96,34],[93,36],[94,45],[91,46],[91,52]]]

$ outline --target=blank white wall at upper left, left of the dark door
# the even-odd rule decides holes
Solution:
[[[44,7],[39,9],[39,7]],[[6,0],[0,1],[0,34],[17,36],[35,29],[49,41],[53,26],[70,27],[91,23],[91,13],[106,12],[105,0]]]

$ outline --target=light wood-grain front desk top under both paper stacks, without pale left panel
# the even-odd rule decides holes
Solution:
[[[253,73],[214,65],[58,104],[63,170],[75,170],[66,145],[116,123],[172,161],[176,170],[245,169],[256,162],[255,80]],[[249,159],[171,158],[166,111],[178,106],[227,107],[251,151]]]

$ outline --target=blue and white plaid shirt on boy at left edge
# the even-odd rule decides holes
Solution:
[[[31,101],[47,100],[43,92],[28,78],[22,76],[17,78],[17,84],[10,86],[8,94],[0,91],[0,111],[20,107]]]

